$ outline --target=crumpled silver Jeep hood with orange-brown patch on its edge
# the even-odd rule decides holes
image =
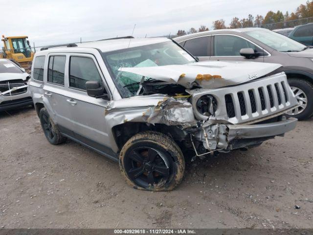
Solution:
[[[205,61],[187,65],[120,68],[119,71],[178,83],[186,88],[192,88],[194,85],[201,88],[220,88],[262,77],[281,66],[280,64],[246,61]]]

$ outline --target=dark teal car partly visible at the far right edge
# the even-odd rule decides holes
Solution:
[[[288,37],[304,45],[313,46],[313,23],[296,26]]]

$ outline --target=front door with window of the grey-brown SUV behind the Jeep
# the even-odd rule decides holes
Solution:
[[[252,48],[255,52],[263,52],[258,47],[246,39],[234,35],[215,35],[211,42],[211,60],[235,60],[235,61],[253,61],[264,62],[264,56],[246,59],[240,55],[242,48]]]

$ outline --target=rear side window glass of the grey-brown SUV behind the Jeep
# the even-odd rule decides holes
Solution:
[[[209,37],[201,37],[187,40],[185,48],[193,56],[209,56],[208,55]]]

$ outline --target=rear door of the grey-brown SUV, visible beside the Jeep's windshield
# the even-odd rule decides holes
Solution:
[[[193,38],[186,40],[183,44],[180,43],[186,50],[188,50],[193,56],[198,57],[199,61],[209,60],[209,44],[210,36],[204,36],[199,38]]]

